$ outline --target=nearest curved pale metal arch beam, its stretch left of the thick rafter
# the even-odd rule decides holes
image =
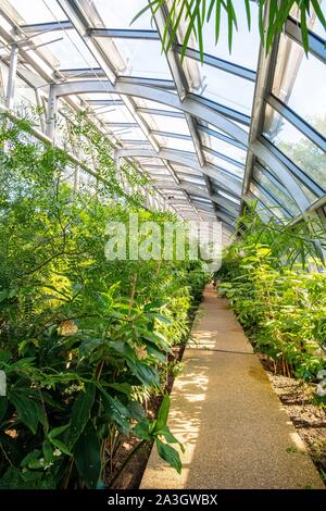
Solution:
[[[180,101],[177,95],[170,92],[168,90],[162,90],[156,87],[148,87],[145,85],[131,84],[117,79],[115,85],[106,79],[85,79],[66,82],[63,84],[55,84],[53,86],[54,94],[57,97],[70,96],[70,95],[83,95],[88,92],[108,92],[118,94],[122,96],[137,96],[138,98],[148,99],[151,101],[158,101],[162,104],[167,104],[183,112],[189,113],[196,117],[205,121],[224,133],[240,141],[241,144],[248,144],[248,133],[240,128],[233,121],[215,112],[211,107],[200,104],[196,99],[186,97],[184,101]]]

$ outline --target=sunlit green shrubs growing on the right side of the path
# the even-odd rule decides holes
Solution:
[[[316,264],[324,267],[325,229],[265,224],[254,208],[239,226],[242,235],[226,249],[218,272],[220,290],[276,370],[312,378],[326,365],[326,278],[316,271]]]

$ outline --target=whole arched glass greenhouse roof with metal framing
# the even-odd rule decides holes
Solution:
[[[324,197],[325,30],[313,13],[309,54],[296,35],[293,10],[268,61],[260,51],[258,7],[249,32],[244,2],[234,0],[233,51],[226,20],[217,45],[212,20],[203,30],[203,62],[191,37],[181,62],[181,25],[174,48],[164,53],[158,15],[151,18],[147,11],[130,24],[146,3],[2,0],[2,104],[16,112],[22,105],[49,110],[54,90],[61,109],[54,116],[62,123],[68,122],[64,104],[87,105],[89,116],[113,136],[116,158],[148,172],[173,211],[215,215],[227,229],[243,200],[256,198],[264,216],[284,221]],[[165,3],[168,10],[171,0]],[[325,0],[319,3],[325,7]],[[13,43],[20,55],[10,82]],[[40,113],[37,127],[63,144],[51,120],[49,112]]]

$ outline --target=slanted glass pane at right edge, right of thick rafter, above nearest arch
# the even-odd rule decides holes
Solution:
[[[326,189],[326,154],[269,105],[266,105],[264,135],[309,177]]]

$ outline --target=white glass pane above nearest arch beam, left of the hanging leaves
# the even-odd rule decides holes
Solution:
[[[162,53],[161,41],[142,39],[112,39],[126,67],[125,76],[172,79],[168,64]]]

